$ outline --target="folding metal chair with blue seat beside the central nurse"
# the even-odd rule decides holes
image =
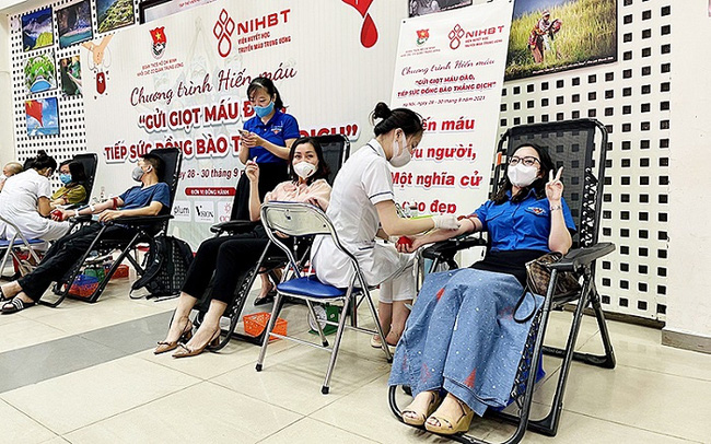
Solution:
[[[284,252],[289,258],[289,267],[291,268],[291,271],[295,278],[281,282],[277,285],[277,299],[275,301],[273,309],[271,311],[269,323],[265,330],[266,334],[261,343],[261,351],[259,352],[259,359],[256,366],[257,372],[260,372],[263,369],[270,337],[289,339],[302,344],[327,350],[330,351],[330,362],[328,363],[324,385],[320,389],[320,392],[326,395],[329,390],[330,377],[334,372],[334,366],[336,365],[338,349],[340,347],[340,341],[343,336],[345,328],[350,328],[369,335],[380,336],[381,343],[383,344],[383,352],[385,353],[387,361],[392,362],[393,355],[386,346],[387,342],[385,342],[385,336],[383,335],[383,330],[381,328],[377,311],[375,309],[375,305],[373,304],[373,300],[370,294],[371,287],[365,281],[356,256],[348,252],[346,247],[343,247],[343,245],[340,243],[338,234],[336,233],[336,229],[331,224],[328,217],[326,217],[326,213],[308,203],[269,202],[261,206],[261,223],[267,230],[269,239],[279,248],[281,248],[281,250]],[[354,270],[354,276],[350,282],[350,285],[347,289],[339,289],[322,283],[315,276],[304,276],[296,262],[296,258],[294,257],[293,252],[279,238],[279,236],[277,236],[277,232],[287,234],[292,237],[317,235],[330,236],[336,247],[350,258],[351,267]],[[375,330],[359,327],[356,322],[353,322],[351,325],[346,324],[346,318],[348,317],[347,314],[349,314],[350,311],[357,305],[357,297],[359,295],[368,302],[368,306],[370,307],[371,314],[375,322]],[[327,325],[335,325],[338,327],[336,331],[336,338],[334,340],[334,347],[328,347],[328,341],[326,340],[326,336],[324,335],[320,323],[315,323],[315,326],[318,330],[318,337],[322,341],[320,344],[272,332],[276,319],[279,316],[281,301],[283,297],[293,297],[304,301],[308,307],[311,316],[313,316],[314,319],[317,319],[316,314],[314,313],[314,303],[342,303],[343,307],[338,323],[324,320]]]

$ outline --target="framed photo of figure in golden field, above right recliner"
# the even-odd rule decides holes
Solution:
[[[515,0],[505,80],[617,61],[617,0]]]

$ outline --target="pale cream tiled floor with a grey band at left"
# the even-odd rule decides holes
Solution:
[[[393,418],[389,366],[365,336],[346,334],[324,396],[328,355],[292,342],[273,342],[260,373],[258,348],[237,341],[197,358],[153,355],[174,304],[131,301],[118,282],[93,305],[66,301],[0,316],[0,442],[446,442]],[[569,316],[553,314],[548,342],[562,342]],[[303,307],[283,317],[290,332],[313,337]],[[528,433],[524,442],[711,443],[711,355],[662,347],[658,330],[609,324],[617,367],[574,364],[558,435]],[[599,349],[591,318],[579,348]],[[534,414],[550,401],[559,361],[546,358],[545,367]],[[471,428],[494,441],[511,431],[491,420]]]

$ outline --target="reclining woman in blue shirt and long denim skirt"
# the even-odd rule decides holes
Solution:
[[[553,168],[546,150],[520,145],[509,157],[503,187],[462,220],[459,230],[435,231],[399,246],[412,252],[479,231],[490,238],[486,257],[470,269],[426,279],[388,382],[412,389],[404,422],[442,434],[466,432],[474,412],[481,416],[508,402],[528,332],[514,313],[526,282],[525,264],[550,252],[566,254],[575,231],[562,198],[562,168],[556,176]],[[524,299],[524,315],[536,309],[534,297],[540,301]]]

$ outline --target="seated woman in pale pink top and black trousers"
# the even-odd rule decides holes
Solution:
[[[282,182],[268,192],[265,202],[308,202],[326,210],[330,200],[330,185],[326,182],[328,172],[320,144],[313,138],[298,139],[289,153],[291,179]],[[245,174],[249,179],[249,217],[253,221],[258,221],[261,207],[258,194],[259,166],[247,161]],[[249,233],[212,237],[202,242],[188,270],[167,337],[159,342],[154,353],[164,353],[179,347],[173,358],[193,357],[201,353],[213,341],[219,341],[220,318],[232,300],[240,276],[256,266],[268,242],[263,225],[257,225]],[[272,248],[273,253],[281,252],[275,245]],[[193,323],[188,315],[213,274],[210,306],[193,336]],[[182,339],[187,340],[187,343],[180,343]]]

